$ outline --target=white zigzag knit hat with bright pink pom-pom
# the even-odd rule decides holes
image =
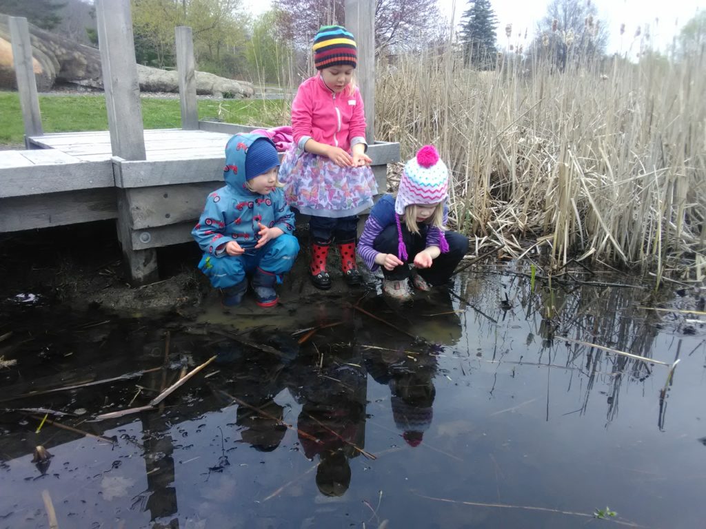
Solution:
[[[409,160],[402,169],[400,188],[397,190],[395,212],[405,213],[412,204],[431,205],[443,202],[448,191],[448,169],[439,159],[433,145],[424,145],[417,156]]]

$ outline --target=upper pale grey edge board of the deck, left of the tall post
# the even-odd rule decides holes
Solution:
[[[29,165],[0,167],[0,198],[61,193],[70,190],[113,188],[114,177],[112,164],[105,162],[77,162],[69,157],[61,161],[52,151],[26,151],[23,156]],[[53,154],[54,162],[42,161],[37,157],[32,164],[30,153]],[[47,159],[49,157],[46,157]],[[34,227],[34,226],[32,226]]]

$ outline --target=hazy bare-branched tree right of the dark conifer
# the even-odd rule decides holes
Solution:
[[[547,56],[563,70],[569,61],[593,61],[608,43],[606,24],[594,4],[585,0],[551,0],[539,23],[535,53]]]

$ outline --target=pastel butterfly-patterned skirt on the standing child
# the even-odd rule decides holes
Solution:
[[[287,203],[299,212],[318,217],[347,217],[373,205],[378,193],[369,166],[339,167],[330,159],[303,152],[287,151],[280,165],[280,182]]]

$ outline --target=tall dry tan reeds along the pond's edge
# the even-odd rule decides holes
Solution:
[[[376,139],[433,143],[457,229],[663,276],[706,272],[706,60],[462,67],[446,49],[379,66]]]

